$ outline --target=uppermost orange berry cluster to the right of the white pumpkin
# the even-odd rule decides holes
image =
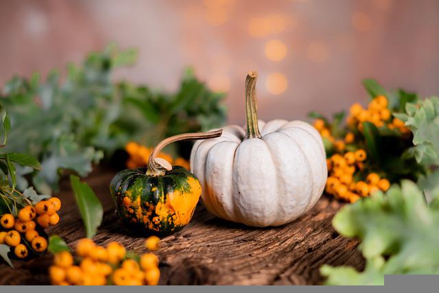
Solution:
[[[372,99],[365,109],[358,103],[351,106],[349,115],[346,118],[346,123],[351,128],[357,128],[360,132],[363,131],[362,122],[368,121],[375,124],[377,128],[387,126],[389,129],[398,129],[402,134],[410,133],[410,129],[405,127],[403,121],[394,118],[388,109],[388,99],[383,95],[379,95]]]

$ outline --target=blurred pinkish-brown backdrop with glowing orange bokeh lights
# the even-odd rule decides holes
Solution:
[[[191,65],[244,123],[246,72],[261,119],[366,103],[363,78],[439,93],[437,0],[3,0],[0,82],[80,62],[111,41],[137,47],[117,78],[173,91]]]

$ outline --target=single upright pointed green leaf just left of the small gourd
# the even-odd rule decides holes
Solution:
[[[80,182],[78,176],[71,175],[70,183],[80,210],[82,222],[84,222],[86,237],[92,238],[96,234],[97,227],[102,223],[102,203],[86,183]]]

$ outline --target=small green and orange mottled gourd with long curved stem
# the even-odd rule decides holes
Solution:
[[[211,139],[222,130],[169,137],[150,154],[146,167],[125,169],[110,184],[119,218],[133,230],[166,235],[186,226],[200,199],[198,179],[181,166],[171,166],[157,154],[174,141]]]

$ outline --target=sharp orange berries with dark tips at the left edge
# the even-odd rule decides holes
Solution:
[[[43,253],[47,249],[47,239],[36,231],[37,224],[41,228],[58,224],[60,216],[56,211],[59,211],[60,208],[61,200],[50,198],[38,202],[35,206],[23,207],[16,217],[11,213],[1,215],[0,224],[5,231],[0,231],[0,244],[13,247],[14,255],[20,259],[29,255],[27,245],[32,246],[36,253]]]

